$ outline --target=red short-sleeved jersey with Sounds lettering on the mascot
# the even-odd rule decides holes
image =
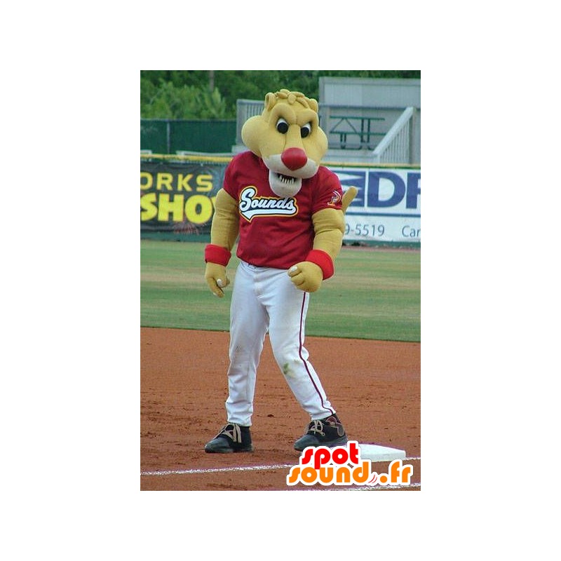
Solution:
[[[234,156],[224,174],[224,191],[238,201],[240,240],[236,255],[255,266],[289,269],[313,248],[318,210],[342,209],[339,178],[320,166],[302,180],[292,197],[279,197],[269,186],[269,168],[250,151]]]

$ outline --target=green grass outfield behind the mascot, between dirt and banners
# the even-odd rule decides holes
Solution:
[[[204,280],[205,243],[140,242],[142,327],[229,330],[232,285],[217,298]],[[228,266],[234,280],[238,259]],[[421,340],[421,252],[344,247],[335,274],[311,295],[306,335]]]

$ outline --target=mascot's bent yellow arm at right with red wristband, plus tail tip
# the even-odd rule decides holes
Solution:
[[[313,222],[313,249],[306,261],[295,264],[288,270],[292,283],[305,292],[316,292],[323,280],[334,273],[333,262],[339,255],[345,232],[344,213],[356,196],[356,188],[351,187],[343,196],[343,210],[325,208],[316,212]]]

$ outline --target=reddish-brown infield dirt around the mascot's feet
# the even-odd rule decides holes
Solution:
[[[269,341],[257,372],[255,452],[238,454],[204,451],[226,421],[229,334],[143,327],[140,344],[140,489],[332,489],[286,485],[289,466],[299,460],[292,445],[309,417]],[[414,468],[410,489],[420,489],[421,345],[306,337],[306,348],[349,439],[405,450]],[[377,462],[372,471],[387,467]]]

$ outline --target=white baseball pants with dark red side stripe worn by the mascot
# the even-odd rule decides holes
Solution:
[[[229,423],[251,425],[257,366],[267,330],[280,372],[311,420],[334,414],[304,348],[309,297],[292,284],[284,269],[240,262],[230,309]]]

